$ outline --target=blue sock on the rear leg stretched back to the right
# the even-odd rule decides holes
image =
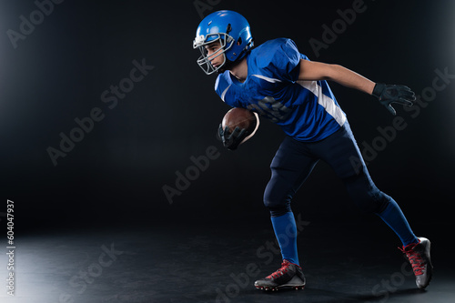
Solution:
[[[419,239],[414,235],[410,229],[410,225],[406,217],[404,217],[397,202],[390,198],[389,205],[378,216],[392,228],[397,234],[403,246],[411,243],[419,243]]]

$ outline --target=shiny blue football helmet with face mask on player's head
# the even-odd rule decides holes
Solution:
[[[219,41],[221,47],[208,56],[206,45]],[[253,46],[253,37],[247,19],[233,11],[218,11],[207,15],[197,27],[194,48],[199,48],[201,56],[197,64],[211,75],[220,68],[225,69],[227,63],[235,63],[248,54]],[[223,64],[214,67],[210,61],[217,56],[224,56]],[[224,66],[224,68],[223,68]]]

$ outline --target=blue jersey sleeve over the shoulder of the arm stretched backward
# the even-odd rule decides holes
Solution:
[[[290,39],[275,40],[275,47],[269,53],[269,64],[266,67],[274,78],[294,82],[298,80],[300,58],[297,45]]]

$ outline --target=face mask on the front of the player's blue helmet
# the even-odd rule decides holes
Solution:
[[[208,56],[206,46],[215,42],[219,42],[220,47],[215,53]],[[205,36],[198,35],[193,42],[193,48],[199,48],[201,52],[201,56],[197,59],[197,65],[199,65],[207,75],[212,75],[221,67],[226,65],[227,59],[225,53],[232,47],[233,44],[234,38],[225,33],[208,34]],[[211,61],[218,56],[223,56],[223,63],[217,67],[212,66]]]

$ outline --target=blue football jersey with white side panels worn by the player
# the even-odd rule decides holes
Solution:
[[[326,81],[298,80],[300,59],[308,57],[292,40],[270,40],[248,55],[245,82],[226,71],[217,77],[215,90],[227,105],[267,117],[288,136],[322,140],[346,122],[346,115]]]

